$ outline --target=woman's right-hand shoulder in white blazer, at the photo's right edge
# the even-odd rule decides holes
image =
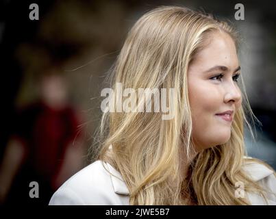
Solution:
[[[257,182],[267,191],[268,203],[276,205],[276,177],[275,170],[268,166],[268,164],[259,161],[258,159],[252,159],[246,157],[243,169],[253,181]],[[251,203],[262,205],[260,197],[251,194]]]

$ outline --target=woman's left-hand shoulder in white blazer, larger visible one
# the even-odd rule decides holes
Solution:
[[[49,205],[123,205],[127,197],[114,191],[110,164],[96,161],[68,179],[51,197]]]

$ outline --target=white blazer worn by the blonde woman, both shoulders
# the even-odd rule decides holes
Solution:
[[[276,193],[273,170],[258,163],[247,164],[244,168],[254,181]],[[247,196],[252,205],[266,205],[257,194]],[[268,195],[268,204],[276,205],[276,195]],[[110,164],[98,160],[68,179],[53,194],[49,205],[129,205],[129,191],[121,174]]]

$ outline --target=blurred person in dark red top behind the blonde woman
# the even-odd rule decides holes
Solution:
[[[40,101],[18,110],[0,166],[2,204],[47,204],[60,185],[83,166],[79,116],[68,103],[68,88],[58,70],[40,78]],[[29,183],[39,185],[30,198]]]

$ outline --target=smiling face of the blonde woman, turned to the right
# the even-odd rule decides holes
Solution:
[[[229,140],[234,114],[242,103],[236,82],[239,73],[234,41],[228,34],[216,31],[188,68],[192,138],[196,151]],[[228,110],[233,110],[231,121],[224,119],[228,116],[216,115]]]

